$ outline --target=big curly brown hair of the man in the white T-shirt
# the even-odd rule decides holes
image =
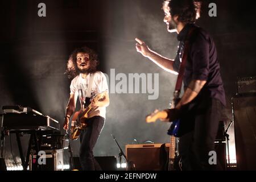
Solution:
[[[97,65],[99,63],[97,53],[93,51],[93,49],[90,49],[85,46],[81,48],[77,48],[71,53],[67,63],[67,69],[65,74],[67,74],[68,78],[70,79],[75,78],[80,73],[76,63],[77,53],[88,53],[89,60],[90,60],[90,67],[87,71],[88,73],[95,73],[97,71]]]

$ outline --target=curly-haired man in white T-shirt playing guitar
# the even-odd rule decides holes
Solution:
[[[86,127],[80,134],[79,158],[81,167],[86,171],[101,170],[100,165],[94,159],[93,147],[101,133],[105,123],[106,107],[109,105],[108,83],[104,73],[97,71],[97,54],[88,47],[82,47],[72,52],[67,64],[67,75],[73,78],[70,85],[70,97],[67,105],[64,129],[68,129],[69,119],[76,109],[76,100],[79,96],[81,104],[81,114],[77,119],[84,117]],[[100,100],[92,100],[90,112],[82,115],[86,110],[86,98],[92,98],[100,93],[105,93]],[[77,117],[77,115],[76,115]]]

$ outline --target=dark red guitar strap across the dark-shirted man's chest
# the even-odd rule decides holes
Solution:
[[[182,81],[183,81],[183,76],[184,76],[184,71],[185,71],[185,64],[187,63],[188,51],[190,48],[189,39],[191,38],[192,32],[195,29],[196,29],[195,27],[192,27],[187,34],[187,38],[185,39],[183,56],[182,56],[181,64],[180,64],[180,68],[179,68],[179,75],[177,76],[177,82],[176,82],[176,86],[175,86],[175,92],[177,92],[177,93],[180,93],[181,86],[182,86]]]

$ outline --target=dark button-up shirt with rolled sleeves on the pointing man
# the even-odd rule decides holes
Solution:
[[[217,59],[217,50],[213,39],[202,28],[195,24],[187,24],[177,35],[180,41],[177,55],[174,61],[174,71],[179,72],[181,56],[183,55],[184,42],[189,30],[194,27],[189,40],[188,60],[184,71],[184,89],[192,80],[207,81],[200,95],[207,95],[221,101],[226,105],[225,91],[220,74],[220,64]]]

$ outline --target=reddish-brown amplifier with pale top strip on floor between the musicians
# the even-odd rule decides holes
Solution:
[[[160,171],[162,144],[127,144],[127,160],[135,164],[136,171]],[[167,147],[170,147],[170,145]]]

